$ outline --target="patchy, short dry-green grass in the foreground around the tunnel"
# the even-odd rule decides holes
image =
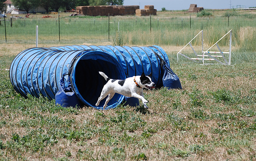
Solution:
[[[8,71],[2,70],[0,155],[150,160],[189,159],[195,154],[215,158],[225,153],[230,159],[250,159],[256,138],[254,67],[250,62],[174,63],[174,71],[182,72],[182,90],[145,91],[148,110],[120,106],[107,111],[62,108],[43,97],[25,99],[11,86]]]

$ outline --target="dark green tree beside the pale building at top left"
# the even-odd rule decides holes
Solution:
[[[19,9],[24,9],[27,13],[39,6],[37,0],[12,0],[13,5]]]

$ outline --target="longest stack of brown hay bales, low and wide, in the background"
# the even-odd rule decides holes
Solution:
[[[76,13],[89,16],[111,16],[135,14],[139,6],[78,6]]]

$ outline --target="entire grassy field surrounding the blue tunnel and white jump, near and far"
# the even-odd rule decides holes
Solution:
[[[222,19],[227,11],[210,12],[215,15],[214,19]],[[25,99],[13,89],[9,72],[0,70],[0,160],[255,160],[255,13],[239,14],[248,14],[239,27],[212,25],[204,31],[208,47],[229,29],[234,30],[232,65],[206,66],[186,59],[177,63],[177,52],[201,30],[201,25],[191,30],[189,26],[173,31],[166,27],[152,28],[151,36],[162,33],[154,42],[154,36],[144,38],[143,35],[149,34],[144,28],[122,30],[125,45],[160,45],[181,80],[182,90],[144,91],[149,109],[144,109],[142,103],[137,107],[120,105],[105,111],[92,107],[62,108],[56,106],[54,100],[42,97]],[[159,13],[159,19],[181,17],[189,15],[183,11]],[[108,19],[86,19],[94,22],[94,18],[102,19],[102,23]],[[203,19],[207,23],[207,18]],[[2,32],[3,26],[0,28]],[[171,31],[169,35],[167,31]],[[190,34],[187,31],[191,31]],[[19,52],[35,47],[33,34],[27,34],[23,39],[15,39],[13,34],[7,43],[1,34],[1,69],[9,68]],[[76,36],[70,34],[58,42],[58,38],[55,40],[45,33],[45,43],[41,39],[39,46],[113,45],[115,36],[108,41],[108,35],[104,34],[78,38],[77,42]],[[134,34],[140,38],[134,39]],[[200,43],[196,40],[195,46],[200,48]],[[226,45],[227,42],[223,42],[221,47]]]

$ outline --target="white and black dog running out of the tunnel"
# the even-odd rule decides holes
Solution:
[[[145,74],[142,73],[141,76],[133,76],[133,77],[126,78],[124,80],[110,79],[103,72],[99,72],[99,74],[102,77],[104,77],[107,82],[103,86],[103,89],[96,103],[96,106],[99,105],[101,100],[103,100],[106,96],[109,95],[109,97],[106,99],[106,102],[103,106],[103,108],[105,109],[106,105],[115,95],[115,93],[118,93],[126,97],[135,97],[135,98],[141,99],[144,107],[148,108],[146,105],[148,101],[143,97],[143,88],[150,89],[150,90],[155,88],[156,85],[154,82],[152,82],[150,78],[151,74],[150,76],[145,76]]]

